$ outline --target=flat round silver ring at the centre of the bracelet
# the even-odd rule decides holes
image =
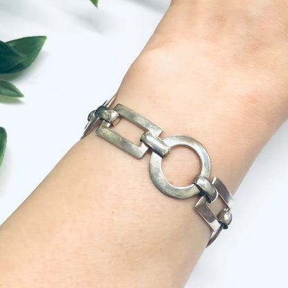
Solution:
[[[201,176],[204,176],[206,178],[210,177],[210,157],[207,150],[201,143],[199,143],[192,137],[183,135],[169,136],[163,141],[170,147],[185,145],[192,148],[192,150],[196,152],[197,156],[199,156],[199,159],[201,160]],[[199,194],[200,190],[194,183],[192,183],[190,186],[185,187],[177,187],[169,183],[169,181],[165,178],[163,174],[162,160],[163,159],[161,158],[161,156],[159,156],[155,152],[152,152],[150,158],[150,175],[155,186],[161,192],[163,192],[169,197],[180,199],[186,199]]]

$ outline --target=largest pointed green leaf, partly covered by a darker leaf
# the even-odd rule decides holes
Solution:
[[[10,48],[14,49],[18,53],[26,56],[26,59],[19,62],[16,66],[7,69],[5,73],[16,73],[26,69],[32,62],[36,59],[39,52],[41,51],[44,42],[46,41],[46,36],[34,36],[34,37],[24,37],[20,39],[15,39],[6,42]]]

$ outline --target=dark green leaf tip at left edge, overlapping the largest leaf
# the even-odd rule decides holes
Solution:
[[[20,62],[24,61],[26,56],[15,51],[8,44],[0,41],[0,73],[17,66]]]

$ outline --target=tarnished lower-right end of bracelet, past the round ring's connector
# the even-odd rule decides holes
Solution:
[[[223,199],[226,207],[216,216],[213,211],[210,210],[210,208],[207,206],[208,201],[206,199],[206,196],[202,196],[195,205],[195,209],[208,223],[210,228],[212,228],[212,230],[215,232],[211,237],[210,241],[208,242],[207,246],[212,244],[216,240],[219,233],[223,229],[227,229],[232,221],[232,215],[230,213],[230,210],[233,206],[233,195],[219,178],[215,177],[212,181],[212,184],[217,190],[218,195]]]

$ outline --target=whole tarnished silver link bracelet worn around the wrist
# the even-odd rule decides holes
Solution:
[[[174,135],[161,139],[159,135],[163,132],[163,129],[140,114],[120,104],[117,104],[113,109],[109,108],[115,98],[116,95],[89,114],[82,138],[96,129],[96,134],[138,159],[141,159],[148,150],[152,150],[150,176],[156,188],[165,195],[178,199],[187,199],[195,195],[200,196],[195,205],[195,210],[214,232],[207,244],[209,246],[223,229],[228,228],[232,221],[230,210],[233,205],[233,195],[219,178],[215,177],[213,181],[209,180],[211,163],[205,147],[190,136]],[[114,132],[112,127],[117,125],[121,118],[126,118],[145,131],[140,139],[141,145],[137,146],[127,138]],[[190,186],[173,186],[163,174],[162,160],[169,154],[171,148],[177,145],[192,148],[201,161],[201,173]],[[215,215],[208,204],[214,202],[218,197],[224,201],[225,208],[218,215]]]

